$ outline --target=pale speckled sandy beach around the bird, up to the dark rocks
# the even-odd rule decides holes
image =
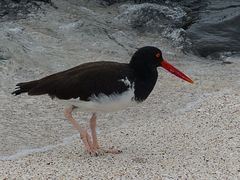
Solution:
[[[240,59],[183,54],[166,39],[108,24],[115,6],[76,3],[0,25],[0,179],[240,179]],[[159,68],[144,103],[99,114],[101,146],[121,154],[90,157],[63,106],[11,95],[18,82],[84,62],[128,62],[145,45],[161,48],[194,84]],[[90,114],[74,116],[88,126]]]

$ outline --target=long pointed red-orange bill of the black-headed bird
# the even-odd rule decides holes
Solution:
[[[161,62],[161,66],[168,70],[170,73],[174,74],[175,76],[193,84],[193,81],[187,77],[185,74],[183,74],[181,71],[179,71],[177,68],[175,68],[173,65],[169,64],[167,61],[163,60]]]

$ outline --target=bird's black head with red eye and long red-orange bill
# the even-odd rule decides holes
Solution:
[[[139,74],[155,71],[157,67],[161,66],[175,76],[189,83],[193,83],[193,81],[184,73],[164,60],[162,57],[162,51],[153,46],[145,46],[138,49],[133,54],[129,65]]]

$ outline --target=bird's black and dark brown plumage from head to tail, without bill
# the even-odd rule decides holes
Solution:
[[[137,51],[129,64],[118,62],[90,62],[62,71],[39,80],[17,84],[17,90],[12,94],[28,95],[48,94],[51,98],[76,99],[89,101],[92,96],[99,94],[121,94],[130,85],[121,81],[126,79],[135,88],[135,100],[143,101],[151,93],[157,77],[159,61],[151,59],[155,53],[149,54],[149,47],[145,51]],[[145,58],[142,58],[145,57]]]

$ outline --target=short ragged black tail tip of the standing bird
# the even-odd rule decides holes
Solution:
[[[12,92],[13,95],[17,96],[22,93],[28,93],[31,89],[38,85],[38,80],[18,83],[16,86],[16,90]]]

